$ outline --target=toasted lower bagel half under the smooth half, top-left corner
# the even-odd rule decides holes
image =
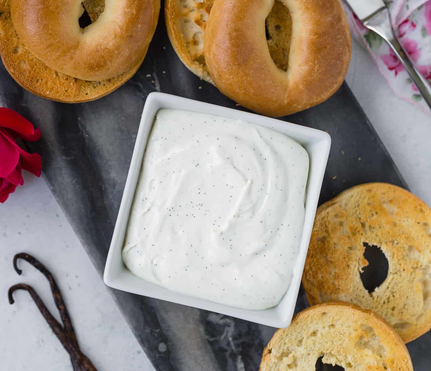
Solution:
[[[103,11],[100,0],[85,0],[84,6],[95,22]],[[144,56],[121,75],[100,81],[87,81],[50,69],[34,56],[16,34],[9,11],[9,0],[0,0],[0,55],[12,77],[33,94],[51,100],[77,103],[100,98],[131,78]],[[157,5],[157,4],[156,4]],[[155,9],[158,11],[158,8]],[[155,15],[157,20],[157,15]]]

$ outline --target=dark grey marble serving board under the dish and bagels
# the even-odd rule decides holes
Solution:
[[[15,109],[41,128],[41,140],[28,145],[42,155],[44,176],[101,276],[141,112],[152,91],[243,109],[184,67],[169,43],[162,13],[136,75],[93,102],[62,104],[36,97],[19,87],[0,63],[0,106]],[[406,187],[346,84],[325,103],[282,119],[331,134],[321,203],[370,181]],[[275,331],[119,290],[112,290],[112,295],[160,371],[257,370],[262,350]],[[301,289],[296,311],[306,306]],[[430,345],[429,334],[408,345],[416,371],[429,370],[425,349]]]

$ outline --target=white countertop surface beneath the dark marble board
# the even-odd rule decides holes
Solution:
[[[398,99],[371,57],[353,45],[347,83],[383,140],[412,192],[431,205],[431,115]],[[44,178],[25,174],[0,204],[0,359],[2,369],[72,370],[69,356],[28,293],[7,290],[28,282],[59,320],[46,279],[26,262],[22,276],[12,258],[28,252],[43,256],[68,306],[81,349],[98,370],[154,370],[54,199]]]

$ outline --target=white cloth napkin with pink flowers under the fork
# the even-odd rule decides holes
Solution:
[[[431,84],[431,0],[384,1],[389,6],[398,41]],[[347,6],[345,9],[352,36],[369,50],[394,93],[431,114],[422,95],[390,47],[380,36],[366,29]]]

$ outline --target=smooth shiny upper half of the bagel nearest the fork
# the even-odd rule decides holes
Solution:
[[[242,106],[284,116],[328,99],[342,84],[351,39],[340,0],[281,0],[292,36],[287,72],[271,58],[265,19],[274,0],[218,0],[209,14],[203,51],[219,90]]]

